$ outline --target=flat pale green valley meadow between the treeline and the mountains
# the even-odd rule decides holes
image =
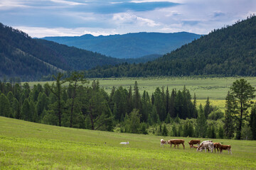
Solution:
[[[137,81],[139,85],[139,91],[142,94],[144,90],[149,92],[151,95],[156,87],[162,87],[166,89],[166,86],[171,89],[182,90],[183,86],[186,86],[193,94],[196,93],[196,98],[201,100],[206,100],[209,96],[210,100],[225,100],[225,96],[228,94],[228,90],[233,82],[241,77],[225,77],[225,78],[194,78],[194,77],[163,77],[163,78],[109,78],[109,79],[98,79],[100,81],[100,86],[102,86],[105,91],[110,93],[112,86],[123,86],[129,89],[129,86],[134,86],[134,82]],[[252,86],[256,87],[255,77],[242,77],[246,79]],[[93,79],[89,79],[90,84]],[[97,79],[96,79],[97,80]],[[34,84],[45,84],[45,81],[41,82],[29,82],[30,86]],[[50,81],[48,83],[51,84]],[[68,84],[66,84],[68,85]]]

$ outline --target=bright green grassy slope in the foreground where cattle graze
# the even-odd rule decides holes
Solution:
[[[0,169],[255,169],[256,141],[214,140],[233,154],[160,147],[161,138],[0,117]],[[130,145],[119,145],[129,141]],[[105,143],[106,142],[106,143]]]

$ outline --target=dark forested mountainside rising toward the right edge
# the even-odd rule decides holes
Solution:
[[[87,77],[256,76],[256,16],[213,30],[146,64],[96,68]],[[97,72],[97,75],[95,74]]]

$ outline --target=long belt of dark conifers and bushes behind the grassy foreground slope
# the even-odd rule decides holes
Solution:
[[[153,94],[141,95],[135,81],[129,89],[113,87],[107,94],[99,81],[89,86],[78,72],[65,79],[63,74],[53,78],[55,83],[32,89],[28,83],[0,82],[0,115],[71,128],[177,137],[233,138],[237,133],[235,118],[211,106],[209,98],[205,106],[197,107],[196,94],[191,98],[186,86],[170,91],[156,88]],[[254,124],[243,123],[242,139],[255,139]]]

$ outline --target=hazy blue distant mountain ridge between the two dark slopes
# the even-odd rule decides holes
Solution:
[[[74,46],[116,58],[138,58],[146,55],[164,55],[200,38],[194,33],[127,33],[124,35],[77,37],[46,37],[44,40]]]

